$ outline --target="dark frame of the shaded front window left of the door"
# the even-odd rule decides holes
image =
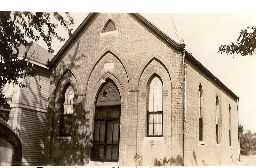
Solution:
[[[66,101],[66,92],[68,91],[68,89],[71,91],[71,99],[70,99],[70,104],[67,104],[67,105],[72,105],[72,114],[70,114],[70,111],[69,111],[69,114],[64,114],[64,108],[65,108],[65,101]],[[73,93],[72,93],[73,92]],[[72,101],[72,98],[73,98],[73,104],[71,103]],[[72,135],[72,123],[73,123],[73,113],[74,113],[74,102],[75,100],[75,90],[74,90],[74,87],[68,83],[66,84],[66,86],[63,88],[63,92],[62,92],[62,100],[61,100],[61,114],[60,114],[60,127],[59,127],[59,136],[60,137],[69,137]],[[69,120],[71,120],[71,123],[70,123],[70,131],[68,131],[68,133],[63,133],[62,129],[65,127],[65,124],[64,124],[64,117],[67,117],[69,118]]]

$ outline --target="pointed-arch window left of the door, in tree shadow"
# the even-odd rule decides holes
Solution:
[[[74,107],[74,89],[68,84],[63,90],[62,114],[60,117],[60,136],[71,136]]]

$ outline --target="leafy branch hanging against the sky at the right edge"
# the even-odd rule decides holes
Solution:
[[[249,30],[241,30],[235,44],[231,42],[231,44],[229,45],[221,45],[218,52],[224,52],[231,55],[237,53],[241,54],[242,56],[255,54],[254,51],[256,49],[256,27],[248,27],[248,29]]]

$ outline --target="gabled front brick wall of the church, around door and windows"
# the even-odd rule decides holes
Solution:
[[[114,21],[117,32],[102,34],[109,19]],[[106,63],[114,63],[115,68],[104,69]],[[181,165],[181,63],[180,52],[166,46],[128,14],[100,13],[52,71],[45,160],[49,165],[133,166],[141,162],[143,166],[152,166],[154,159],[166,157],[172,165]],[[72,133],[71,140],[60,140],[56,138],[60,113],[56,102],[60,99],[59,85],[67,80],[67,70],[76,85],[77,109],[72,127],[77,131]],[[160,76],[164,85],[161,138],[146,137],[147,85],[153,74]],[[103,78],[114,81],[121,95],[118,163],[90,160],[95,99]],[[185,145],[189,148],[186,151],[191,151],[192,142],[186,141]]]

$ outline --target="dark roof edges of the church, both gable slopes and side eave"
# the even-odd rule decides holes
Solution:
[[[72,36],[66,41],[66,43],[60,48],[55,57],[46,66],[50,69],[55,68],[60,60],[63,59],[68,50],[75,44],[76,40],[84,33],[84,31],[91,25],[100,13],[89,13],[84,21],[78,26]],[[190,60],[197,68],[199,68],[206,76],[212,78],[221,88],[227,91],[235,99],[239,99],[235,93],[233,93],[227,86],[225,86],[216,76],[214,76],[207,68],[205,68],[198,60],[196,60],[185,48],[185,44],[178,44],[172,38],[167,36],[163,31],[153,25],[150,21],[144,18],[139,13],[128,13],[134,20],[140,23],[144,28],[150,31],[158,39],[160,39],[167,46],[175,49],[178,52],[185,51],[185,58]]]

